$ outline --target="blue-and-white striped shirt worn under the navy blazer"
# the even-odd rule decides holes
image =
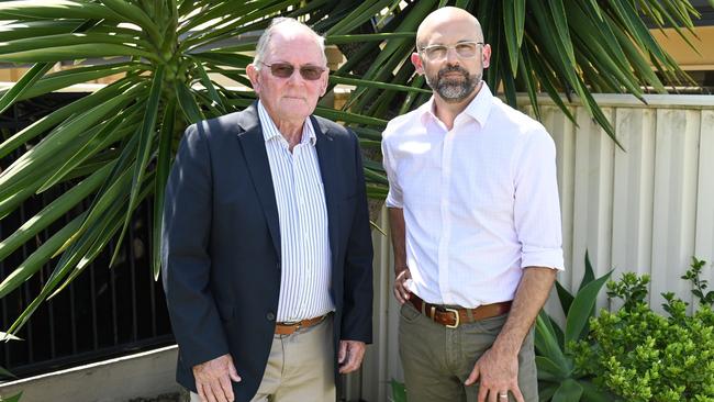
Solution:
[[[258,101],[265,147],[278,204],[282,276],[278,322],[293,322],[335,310],[330,295],[331,252],[327,206],[315,132],[310,119],[290,153],[288,141]]]

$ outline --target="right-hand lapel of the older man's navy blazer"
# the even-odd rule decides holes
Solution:
[[[332,252],[333,268],[335,267],[335,258],[337,258],[337,205],[335,202],[335,193],[339,182],[335,176],[335,142],[328,127],[317,123],[317,119],[310,116],[312,126],[315,131],[315,149],[317,150],[317,159],[320,163],[320,174],[322,176],[322,185],[325,191],[325,204],[327,205],[327,231],[330,233],[330,250]]]

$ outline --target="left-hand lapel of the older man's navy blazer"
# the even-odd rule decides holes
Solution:
[[[260,126],[260,120],[258,119],[257,103],[254,102],[241,113],[238,125],[242,129],[238,133],[238,139],[241,143],[241,149],[243,150],[243,157],[248,166],[248,171],[253,179],[253,186],[260,199],[263,213],[268,222],[268,230],[270,231],[270,237],[272,237],[276,253],[280,256],[280,223],[278,219],[278,204],[276,202],[276,193],[272,187],[270,163],[268,161],[268,153],[265,148],[263,129]]]

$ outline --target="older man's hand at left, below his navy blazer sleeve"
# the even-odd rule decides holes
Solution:
[[[241,381],[231,355],[193,366],[196,389],[201,402],[233,402],[233,384]]]

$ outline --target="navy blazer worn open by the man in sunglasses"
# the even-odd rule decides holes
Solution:
[[[325,190],[339,339],[371,343],[372,245],[359,143],[311,116]],[[258,389],[280,292],[280,227],[257,103],[187,129],[166,187],[164,289],[179,345],[177,380],[196,391],[192,367],[231,354],[236,401]],[[335,376],[337,376],[335,356]]]

